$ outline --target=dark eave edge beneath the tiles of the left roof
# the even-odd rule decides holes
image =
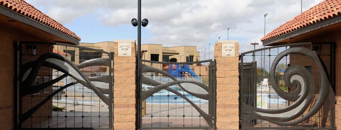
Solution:
[[[26,16],[22,16],[22,15],[18,14],[17,12],[13,12],[13,11],[3,7],[3,6],[0,6],[0,12],[4,16],[8,16],[8,17],[13,18],[13,19],[15,19],[17,21],[20,21],[22,23],[25,23],[27,25],[33,26],[33,27],[35,27],[37,29],[40,29],[40,30],[42,30],[42,31],[44,31],[46,33],[50,33],[52,35],[58,36],[60,38],[63,38],[66,41],[69,41],[70,43],[73,43],[75,45],[79,45],[80,44],[79,40],[77,40],[77,39],[75,39],[75,38],[73,38],[71,36],[68,36],[68,35],[66,35],[64,33],[61,33],[60,31],[57,31],[57,30],[55,30],[55,29],[53,29],[53,28],[51,28],[49,26],[46,26],[46,25],[44,25],[44,24],[42,24],[42,23],[40,23],[40,22],[38,22],[38,21],[36,21],[34,19],[28,18]]]

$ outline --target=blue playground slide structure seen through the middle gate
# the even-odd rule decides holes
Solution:
[[[176,65],[175,69],[173,69],[172,66],[173,65],[169,65],[168,72],[176,78],[182,78],[184,72],[189,73],[193,78],[199,78],[199,76],[191,68],[189,68],[189,65]]]

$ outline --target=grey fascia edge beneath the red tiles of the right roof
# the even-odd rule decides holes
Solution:
[[[331,19],[323,20],[321,22],[301,28],[299,30],[296,30],[290,33],[285,33],[283,35],[271,38],[269,40],[265,40],[262,42],[262,44],[263,46],[272,46],[272,44],[275,44],[275,43],[283,43],[283,40],[290,39],[294,36],[298,36],[304,33],[309,33],[309,32],[312,32],[312,31],[315,31],[315,30],[318,30],[318,29],[321,29],[321,28],[324,28],[324,27],[327,27],[327,26],[330,26],[339,22],[341,22],[341,16],[336,16]]]

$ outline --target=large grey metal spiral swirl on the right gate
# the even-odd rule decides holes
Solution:
[[[319,68],[319,74],[321,77],[321,85],[319,88],[318,97],[314,100],[315,84],[311,73],[301,65],[291,65],[285,69],[284,83],[287,87],[297,85],[296,90],[293,92],[282,91],[277,85],[275,79],[276,66],[279,64],[284,56],[290,53],[302,54],[311,58],[317,67]],[[270,69],[270,83],[275,92],[283,99],[294,102],[293,104],[282,109],[261,109],[243,104],[245,107],[246,120],[251,119],[264,119],[269,122],[290,126],[296,125],[304,120],[309,119],[316,114],[322,107],[328,95],[331,93],[331,85],[328,80],[327,74],[324,69],[324,64],[321,63],[320,58],[310,49],[302,47],[294,47],[282,51],[274,59]],[[307,110],[308,107],[311,107]],[[304,113],[304,116],[301,116]]]

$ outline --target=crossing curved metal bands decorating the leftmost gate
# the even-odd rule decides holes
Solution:
[[[22,77],[22,80],[21,80],[22,82],[20,84],[20,96],[31,95],[35,92],[39,92],[40,90],[43,90],[44,88],[51,86],[52,84],[62,80],[63,78],[67,76],[71,76],[76,81],[66,84],[65,86],[59,88],[57,91],[55,91],[54,93],[46,97],[44,100],[42,100],[39,104],[37,104],[36,106],[31,108],[27,112],[23,113],[20,118],[21,122],[29,118],[44,103],[46,103],[49,99],[51,99],[53,96],[58,94],[61,90],[71,85],[77,84],[77,83],[81,83],[87,88],[93,90],[105,104],[110,106],[111,100],[109,99],[109,97],[105,96],[104,94],[109,95],[111,92],[109,89],[110,88],[109,82],[111,81],[112,77],[111,76],[96,76],[96,77],[87,78],[80,72],[81,68],[84,68],[87,66],[94,66],[94,65],[105,65],[105,66],[110,67],[111,62],[110,62],[110,59],[96,58],[96,59],[84,61],[76,66],[71,61],[61,56],[60,54],[45,53],[41,55],[36,61],[32,61],[32,62],[22,65],[21,72],[20,72],[21,77]],[[59,70],[60,72],[63,72],[64,74],[52,81],[48,81],[39,85],[31,86],[41,66],[46,66],[46,67]]]

